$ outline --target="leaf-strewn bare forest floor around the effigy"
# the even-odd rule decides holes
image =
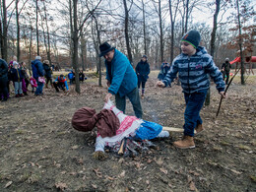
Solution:
[[[144,119],[182,128],[181,88],[155,88],[152,72],[142,99]],[[223,100],[211,88],[211,105],[201,110],[205,131],[196,148],[176,149],[182,133],[154,143],[136,158],[108,154],[94,160],[95,132],[71,126],[74,112],[103,107],[106,94],[96,78],[81,85],[81,95],[44,89],[44,96],[12,97],[0,102],[0,191],[256,191],[256,76],[241,86],[238,77]],[[127,114],[133,115],[127,101]]]

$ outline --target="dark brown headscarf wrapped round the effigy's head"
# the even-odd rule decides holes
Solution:
[[[96,114],[95,109],[83,107],[75,112],[72,126],[76,130],[84,132],[92,131],[96,126],[99,135],[104,138],[116,135],[120,122],[111,110],[103,109]]]

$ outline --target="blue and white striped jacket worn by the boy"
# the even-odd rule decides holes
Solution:
[[[190,57],[181,53],[173,60],[171,69],[162,80],[165,87],[171,84],[177,73],[184,93],[209,89],[209,76],[214,80],[217,90],[224,92],[223,75],[204,47],[198,46],[196,54]]]

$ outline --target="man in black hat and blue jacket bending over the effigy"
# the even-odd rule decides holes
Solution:
[[[128,58],[107,42],[99,45],[99,57],[104,56],[108,94],[104,101],[115,96],[116,107],[125,113],[127,96],[137,118],[142,118],[142,106],[137,88],[138,79]]]

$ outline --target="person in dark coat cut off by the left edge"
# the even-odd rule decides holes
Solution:
[[[8,65],[5,60],[0,59],[0,100],[8,98]]]

